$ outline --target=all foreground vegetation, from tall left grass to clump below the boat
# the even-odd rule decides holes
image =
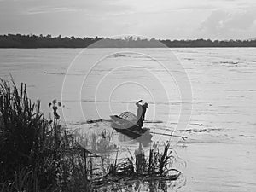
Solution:
[[[116,155],[111,160],[81,147],[82,137],[74,137],[60,125],[61,102],[54,100],[49,108],[53,117],[47,120],[40,112],[40,102],[28,98],[26,84],[18,88],[14,82],[0,79],[0,192],[98,191],[116,183],[120,188],[120,181],[180,177],[181,172],[172,168],[175,157],[170,143],[165,143],[162,152],[154,146],[146,156],[140,146],[129,158],[118,160]],[[101,137],[108,135],[102,132]],[[97,143],[95,135],[90,139]],[[113,148],[109,140],[97,143],[96,151],[103,146]]]

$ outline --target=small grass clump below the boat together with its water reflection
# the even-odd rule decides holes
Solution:
[[[102,189],[101,191],[122,191],[121,189],[137,191],[138,186],[143,184],[148,186],[147,190],[166,191],[166,183],[175,188],[176,181],[178,184],[178,178],[182,175],[172,168],[174,160],[169,142],[164,143],[163,151],[160,151],[159,146],[154,145],[147,157],[140,144],[134,155],[130,153],[130,157],[123,160],[118,160],[117,153],[109,166],[108,174],[92,181],[92,186],[94,189]]]

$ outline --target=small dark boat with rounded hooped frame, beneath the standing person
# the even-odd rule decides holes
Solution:
[[[136,116],[131,112],[124,112],[120,115],[111,115],[111,127],[133,139],[139,138],[140,140],[151,139],[152,135],[149,128],[141,128],[136,124]]]

